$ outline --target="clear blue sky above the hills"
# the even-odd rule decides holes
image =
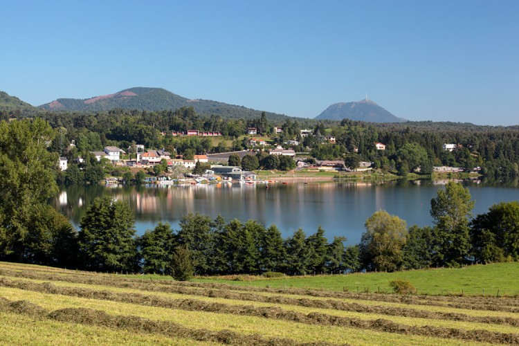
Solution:
[[[1,0],[0,90],[33,105],[133,86],[313,118],[368,97],[409,120],[519,124],[519,1]]]

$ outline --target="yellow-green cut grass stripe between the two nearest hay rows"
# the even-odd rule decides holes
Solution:
[[[114,315],[134,315],[154,320],[168,320],[180,323],[188,328],[203,326],[212,331],[230,329],[243,334],[255,334],[258,331],[264,337],[291,338],[300,343],[351,343],[353,345],[482,345],[469,340],[444,339],[435,336],[415,336],[392,334],[369,329],[347,327],[304,325],[282,320],[268,320],[253,316],[233,316],[221,313],[199,311],[177,311],[158,307],[143,307],[136,304],[73,298],[63,295],[21,291],[19,289],[1,289],[0,295],[10,299],[24,299],[41,304],[48,310],[66,307],[84,307],[98,309]],[[489,344],[490,345],[490,344]]]

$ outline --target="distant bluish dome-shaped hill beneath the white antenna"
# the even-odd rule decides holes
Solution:
[[[339,102],[331,104],[327,109],[322,111],[317,120],[359,120],[365,122],[403,122],[407,121],[403,118],[394,116],[389,111],[383,109],[372,100],[361,100],[358,102]]]

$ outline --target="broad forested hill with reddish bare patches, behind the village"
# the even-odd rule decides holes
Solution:
[[[212,100],[189,100],[162,88],[131,88],[109,95],[96,96],[85,100],[58,98],[42,104],[42,109],[53,111],[109,111],[112,109],[138,109],[145,111],[175,110],[193,107],[199,114],[217,115],[222,118],[258,118],[262,111],[217,102]],[[282,114],[266,113],[268,119],[277,121],[289,118]]]

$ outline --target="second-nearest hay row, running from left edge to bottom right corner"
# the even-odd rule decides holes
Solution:
[[[279,307],[254,307],[254,306],[233,306],[228,304],[202,302],[199,300],[172,300],[158,298],[155,296],[142,295],[138,293],[115,293],[110,291],[93,291],[90,289],[57,287],[51,283],[37,284],[34,282],[15,282],[3,278],[0,284],[12,288],[39,291],[43,293],[53,293],[69,295],[78,298],[91,298],[96,300],[111,300],[132,304],[142,304],[145,306],[165,307],[170,309],[181,309],[186,311],[204,311],[213,313],[230,313],[240,316],[256,316],[286,320],[290,322],[301,322],[309,325],[333,325],[336,327],[353,327],[361,329],[372,329],[397,334],[435,336],[439,338],[475,340],[487,343],[519,343],[519,334],[499,333],[496,331],[470,330],[432,326],[408,326],[389,320],[361,320],[358,318],[347,318],[340,316],[330,316],[325,313],[304,314],[296,311],[285,311]]]

